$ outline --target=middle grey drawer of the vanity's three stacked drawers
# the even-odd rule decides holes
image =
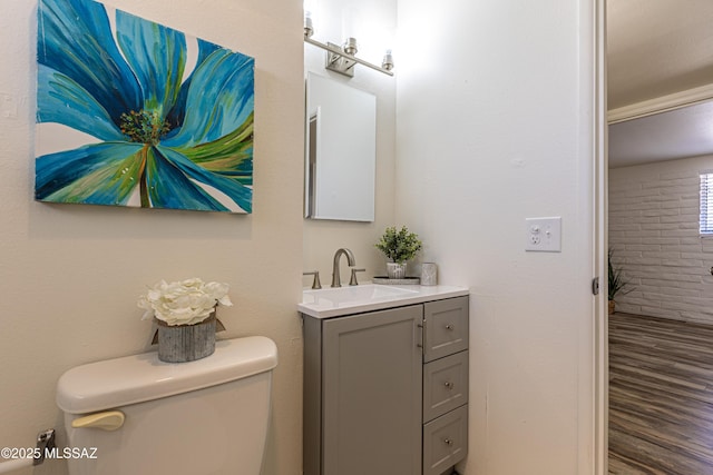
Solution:
[[[468,352],[460,352],[423,366],[423,422],[468,402]]]

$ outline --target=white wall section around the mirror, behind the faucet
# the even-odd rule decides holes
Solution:
[[[381,65],[384,50],[393,47],[397,23],[395,0],[321,0],[307,1],[313,10],[315,33],[320,42],[341,44],[348,36],[359,41],[356,56]],[[385,275],[385,258],[374,244],[387,226],[393,226],[395,161],[395,79],[363,66],[356,66],[353,78],[324,69],[326,52],[304,44],[305,71],[330,77],[335,81],[377,96],[377,194],[373,222],[304,220],[304,270],[319,270],[323,286],[329,286],[332,257],[340,247],[354,253],[356,267],[367,268],[360,280]],[[397,68],[398,68],[398,58]],[[344,144],[344,147],[349,147]],[[349,281],[345,259],[342,259],[342,281]],[[312,285],[305,277],[303,285]]]

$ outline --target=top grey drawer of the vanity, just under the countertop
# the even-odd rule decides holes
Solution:
[[[423,362],[468,349],[468,297],[423,305]]]

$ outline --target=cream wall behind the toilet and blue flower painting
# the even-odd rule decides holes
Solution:
[[[280,350],[266,474],[301,473],[302,4],[116,0],[113,4],[256,59],[254,214],[234,216],[35,202],[37,1],[0,16],[0,446],[61,426],[66,369],[148,348],[146,285],[199,276],[231,284],[224,337]],[[60,434],[61,435],[61,434]],[[65,441],[60,438],[60,443]],[[201,456],[196,454],[196,456]],[[32,473],[31,469],[26,473]],[[35,473],[64,473],[48,462]]]

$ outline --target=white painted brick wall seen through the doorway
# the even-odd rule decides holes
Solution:
[[[713,156],[609,170],[609,247],[629,280],[616,308],[713,324],[713,238],[699,236],[701,171]]]

